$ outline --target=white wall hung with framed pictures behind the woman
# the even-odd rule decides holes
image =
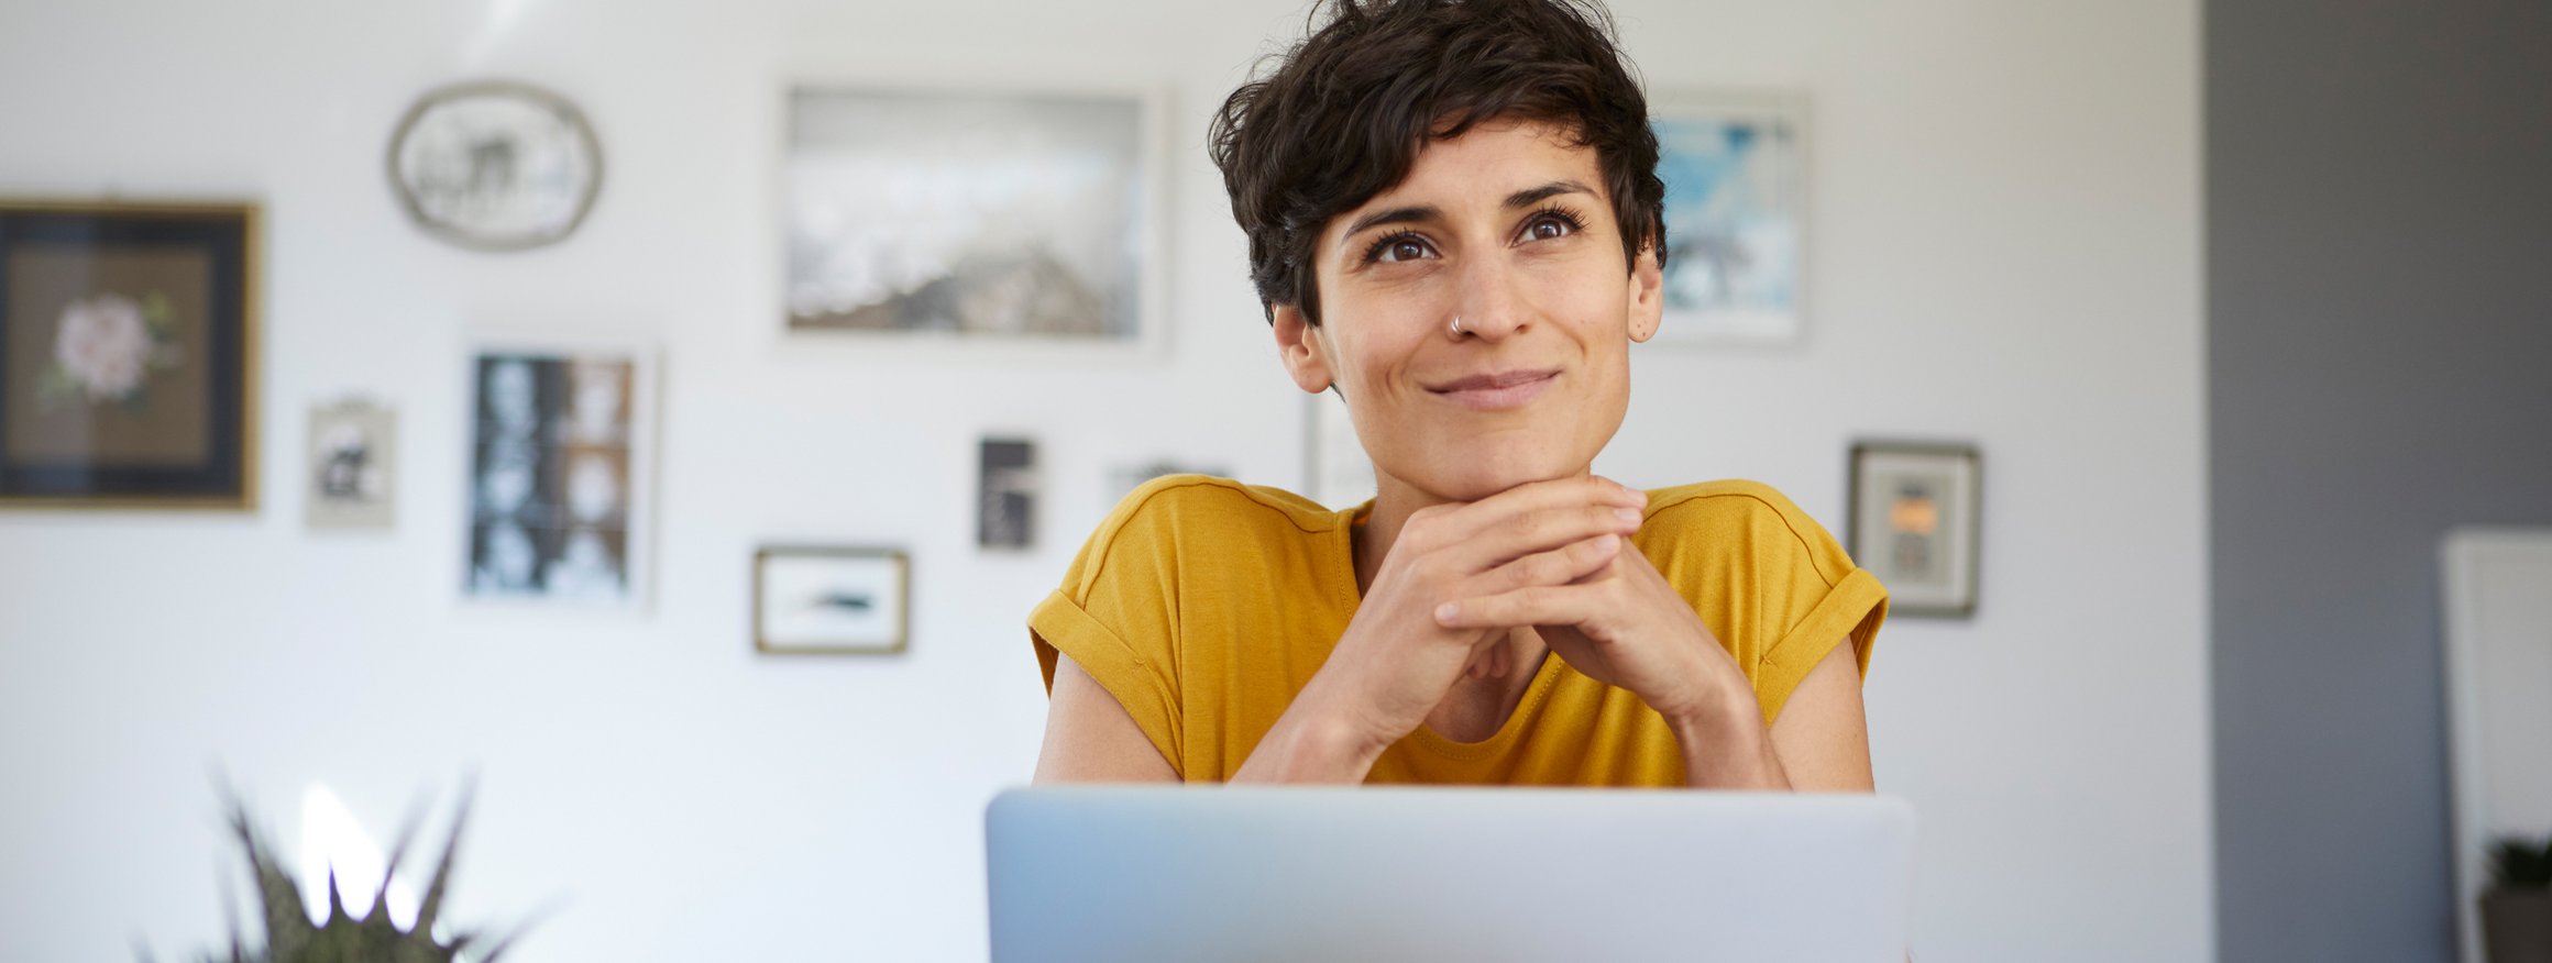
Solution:
[[[1618,5],[1656,87],[1814,104],[1814,334],[1641,352],[1603,471],[1756,476],[1840,530],[1855,436],[1985,448],[1983,609],[1883,632],[1878,782],[1924,818],[1917,953],[2210,955],[2197,8]],[[493,25],[500,23],[500,25]],[[0,3],[0,191],[268,204],[258,515],[0,515],[0,958],[219,932],[207,767],[278,825],[324,780],[388,836],[482,774],[454,912],[567,897],[523,960],[975,958],[980,808],[1034,759],[1021,619],[1148,456],[1302,476],[1302,408],[1202,158],[1291,0]],[[595,120],[584,229],[413,232],[380,176],[421,89],[505,74]],[[791,76],[1171,92],[1156,362],[886,352],[776,321]],[[664,346],[643,614],[457,604],[464,331]],[[393,535],[299,525],[306,408],[403,415]],[[972,548],[972,443],[1044,441],[1028,555]],[[758,660],[760,540],[903,543],[903,660]]]

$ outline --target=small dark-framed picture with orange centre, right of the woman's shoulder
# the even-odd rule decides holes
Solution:
[[[1980,487],[1975,446],[1853,446],[1853,560],[1888,586],[1888,614],[1975,614]]]

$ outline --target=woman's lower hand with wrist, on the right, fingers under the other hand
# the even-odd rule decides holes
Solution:
[[[1615,553],[1567,583],[1501,588],[1437,606],[1437,624],[1447,632],[1534,627],[1552,655],[1598,683],[1631,690],[1679,731],[1735,718],[1738,708],[1758,711],[1746,673],[1636,550]]]

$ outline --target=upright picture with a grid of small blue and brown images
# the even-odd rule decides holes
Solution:
[[[646,596],[653,395],[653,362],[638,346],[472,349],[467,596]]]

